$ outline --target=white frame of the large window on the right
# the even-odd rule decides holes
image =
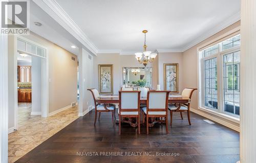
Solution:
[[[199,87],[199,94],[198,94],[198,104],[199,109],[215,114],[218,117],[230,120],[232,122],[239,123],[240,122],[240,116],[236,114],[232,114],[229,112],[224,111],[224,99],[223,99],[223,56],[226,54],[230,54],[233,52],[240,51],[240,46],[236,46],[234,48],[225,50],[221,52],[221,42],[231,38],[237,34],[240,34],[240,27],[235,28],[215,39],[213,39],[211,42],[207,42],[197,48],[198,52],[198,87]],[[210,55],[207,57],[202,56],[203,50],[209,48],[212,45],[219,44],[218,53],[214,55]],[[205,74],[204,74],[204,61],[212,58],[217,57],[217,84],[218,84],[218,109],[210,108],[207,106],[204,106],[205,102]]]

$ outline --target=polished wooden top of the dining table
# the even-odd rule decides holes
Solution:
[[[98,99],[98,103],[100,104],[108,104],[108,103],[119,103],[118,95],[106,95],[100,96]],[[188,97],[183,97],[180,95],[170,95],[168,99],[168,103],[188,103],[190,99]],[[146,98],[140,98],[140,103],[146,103]]]

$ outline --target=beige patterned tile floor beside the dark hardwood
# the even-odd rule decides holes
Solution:
[[[14,162],[78,118],[77,106],[48,118],[30,115],[31,103],[18,104],[18,130],[8,135],[8,162]]]

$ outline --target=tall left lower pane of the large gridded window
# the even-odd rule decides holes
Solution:
[[[204,105],[218,109],[217,58],[204,61]]]

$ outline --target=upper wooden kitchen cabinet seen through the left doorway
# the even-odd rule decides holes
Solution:
[[[18,82],[31,82],[31,66],[18,66]]]

